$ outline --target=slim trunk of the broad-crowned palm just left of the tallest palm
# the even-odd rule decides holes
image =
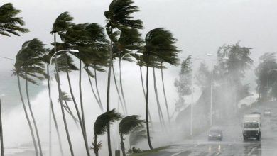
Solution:
[[[89,145],[87,143],[87,130],[86,130],[86,126],[85,126],[85,112],[84,112],[84,106],[82,104],[82,60],[80,59],[79,62],[79,93],[80,93],[80,105],[81,105],[81,113],[82,113],[82,126],[83,126],[83,131],[84,131],[84,140],[85,140],[85,147],[86,147],[86,151],[87,151],[87,156],[90,156],[89,153]]]

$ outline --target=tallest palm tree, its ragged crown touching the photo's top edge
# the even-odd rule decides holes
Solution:
[[[138,12],[138,6],[134,6],[132,0],[113,0],[109,5],[109,10],[104,12],[104,16],[107,18],[106,31],[110,39],[110,52],[109,52],[109,70],[108,70],[108,82],[107,82],[107,111],[109,111],[109,88],[111,82],[111,68],[113,61],[113,43],[116,43],[116,35],[118,31],[114,32],[114,29],[121,28],[143,28],[141,20],[135,20],[132,13]],[[112,156],[111,140],[109,124],[107,127],[107,140],[109,148],[109,156]]]

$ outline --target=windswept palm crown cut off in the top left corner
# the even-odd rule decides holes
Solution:
[[[9,33],[13,35],[20,35],[19,33],[28,33],[27,28],[23,28],[24,21],[22,17],[17,17],[18,10],[13,7],[13,4],[8,3],[0,6],[0,34],[10,36]]]

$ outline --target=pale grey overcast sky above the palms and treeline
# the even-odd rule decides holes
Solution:
[[[1,0],[11,2],[21,9],[20,16],[26,21],[30,33],[21,37],[1,36],[1,56],[14,58],[22,43],[39,38],[48,45],[53,41],[50,35],[55,18],[69,11],[75,23],[100,23],[104,26],[104,11],[108,0]],[[224,43],[253,48],[254,60],[264,52],[276,52],[277,1],[275,0],[136,0],[141,11],[136,18],[143,21],[143,36],[153,28],[165,27],[178,38],[182,57],[213,53]],[[13,62],[2,60],[1,69]],[[3,63],[5,66],[3,66]]]

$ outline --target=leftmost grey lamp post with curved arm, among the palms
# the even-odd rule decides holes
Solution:
[[[52,60],[53,60],[53,57],[55,55],[57,55],[58,53],[60,52],[79,52],[79,50],[59,50],[57,52],[55,52],[52,57],[50,58],[50,63],[49,65],[52,65]],[[57,71],[58,72],[58,71]],[[52,126],[51,126],[51,110],[52,110],[52,98],[51,98],[51,74],[49,74],[49,77],[48,79],[50,80],[49,81],[49,155],[51,156],[52,155],[52,138],[51,138],[51,133],[52,133]]]

